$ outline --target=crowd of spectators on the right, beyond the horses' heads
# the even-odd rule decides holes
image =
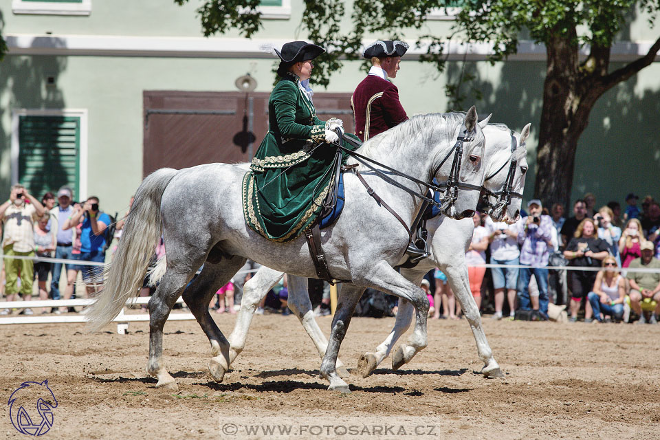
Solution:
[[[555,304],[568,307],[569,322],[637,318],[637,323],[657,323],[660,271],[635,270],[660,268],[660,204],[647,196],[640,209],[638,200],[630,193],[621,212],[616,201],[598,208],[589,193],[576,200],[573,215],[565,217],[559,203],[548,210],[534,199],[512,225],[476,214],[466,254],[467,264],[474,265],[469,275],[476,303],[492,311],[495,319],[508,311],[510,319],[547,320],[549,304]],[[482,248],[484,241],[487,246]],[[486,261],[500,267],[478,267]],[[574,270],[548,270],[549,265]],[[438,272],[426,276],[431,284],[436,281],[436,292],[448,288],[444,282],[437,283],[443,276]],[[484,279],[487,283],[481,286]],[[476,292],[477,285],[481,292]],[[432,318],[459,316],[451,299],[443,304],[445,314],[439,314],[439,296],[434,302]]]

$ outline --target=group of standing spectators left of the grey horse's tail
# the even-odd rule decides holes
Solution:
[[[0,205],[5,255],[0,289],[4,289],[8,301],[17,299],[19,294],[23,300],[30,300],[34,281],[38,283],[41,300],[73,298],[78,272],[83,274],[87,294],[94,292],[102,281],[98,267],[67,263],[67,286],[62,296],[62,263],[34,260],[35,257],[55,257],[80,262],[105,261],[107,245],[113,238],[114,221],[100,210],[98,197],[88,197],[76,203],[72,189],[63,186],[57,192],[57,201],[56,206],[52,192],[46,192],[39,201],[24,186],[17,184],[12,186],[9,200]],[[47,290],[49,276],[50,292]],[[63,312],[76,312],[76,309],[53,307],[41,310],[43,314]],[[11,313],[10,309],[0,309],[0,315]],[[19,313],[32,315],[34,311],[28,307]]]

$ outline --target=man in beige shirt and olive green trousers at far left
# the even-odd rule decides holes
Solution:
[[[29,203],[28,203],[29,201]],[[5,231],[2,248],[5,256],[34,257],[34,221],[43,215],[44,208],[23,185],[12,186],[9,200],[0,205],[0,219]],[[34,261],[30,259],[5,259],[5,292],[7,300],[13,301],[19,294],[18,281],[21,278],[20,294],[23,300],[32,297]],[[9,314],[4,309],[0,314]],[[31,309],[21,312],[32,315]]]

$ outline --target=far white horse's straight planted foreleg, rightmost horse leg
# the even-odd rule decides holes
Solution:
[[[500,366],[493,358],[493,351],[488,344],[483,327],[481,327],[481,315],[479,315],[479,309],[476,307],[472,292],[470,292],[470,279],[467,276],[465,262],[447,265],[442,271],[447,274],[449,284],[454,290],[454,296],[459,301],[463,314],[465,314],[470,329],[472,329],[479,358],[484,363],[481,373],[484,377],[504,377]]]

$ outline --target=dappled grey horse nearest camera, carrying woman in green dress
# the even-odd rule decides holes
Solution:
[[[484,144],[472,107],[467,113],[410,118],[366,142],[358,153],[428,184],[433,178],[445,181],[452,177],[456,184],[448,189],[452,197],[443,208],[450,217],[462,218],[471,217],[476,209],[479,195],[474,188],[481,187],[487,168]],[[449,160],[452,157],[454,160]],[[421,208],[420,197],[426,194],[428,184],[386,173],[399,187],[372,172],[363,175],[371,188],[410,224]],[[247,258],[289,274],[316,276],[304,236],[276,243],[248,228],[241,199],[244,176],[244,168],[228,164],[183,170],[165,168],[146,177],[137,189],[104,289],[91,305],[88,317],[92,329],[99,329],[119,314],[126,300],[137,295],[153,247],[163,232],[167,259],[159,265],[166,265],[166,270],[149,300],[147,372],[157,377],[157,386],[177,389],[162,361],[162,329],[182,292],[210,341],[209,371],[215,380],[221,381],[229,367],[230,344],[208,313],[214,292],[230,281]],[[329,389],[339,391],[349,388],[336,373],[337,353],[355,304],[366,287],[404,298],[414,305],[417,316],[410,344],[416,350],[427,344],[428,313],[426,294],[393,269],[403,257],[410,239],[408,232],[390,212],[379,208],[356,175],[345,175],[344,188],[350,195],[344,212],[336,223],[322,231],[321,239],[329,272],[334,278],[352,281],[342,289],[331,344],[320,368],[322,376],[330,382]],[[201,265],[203,270],[186,289]]]

